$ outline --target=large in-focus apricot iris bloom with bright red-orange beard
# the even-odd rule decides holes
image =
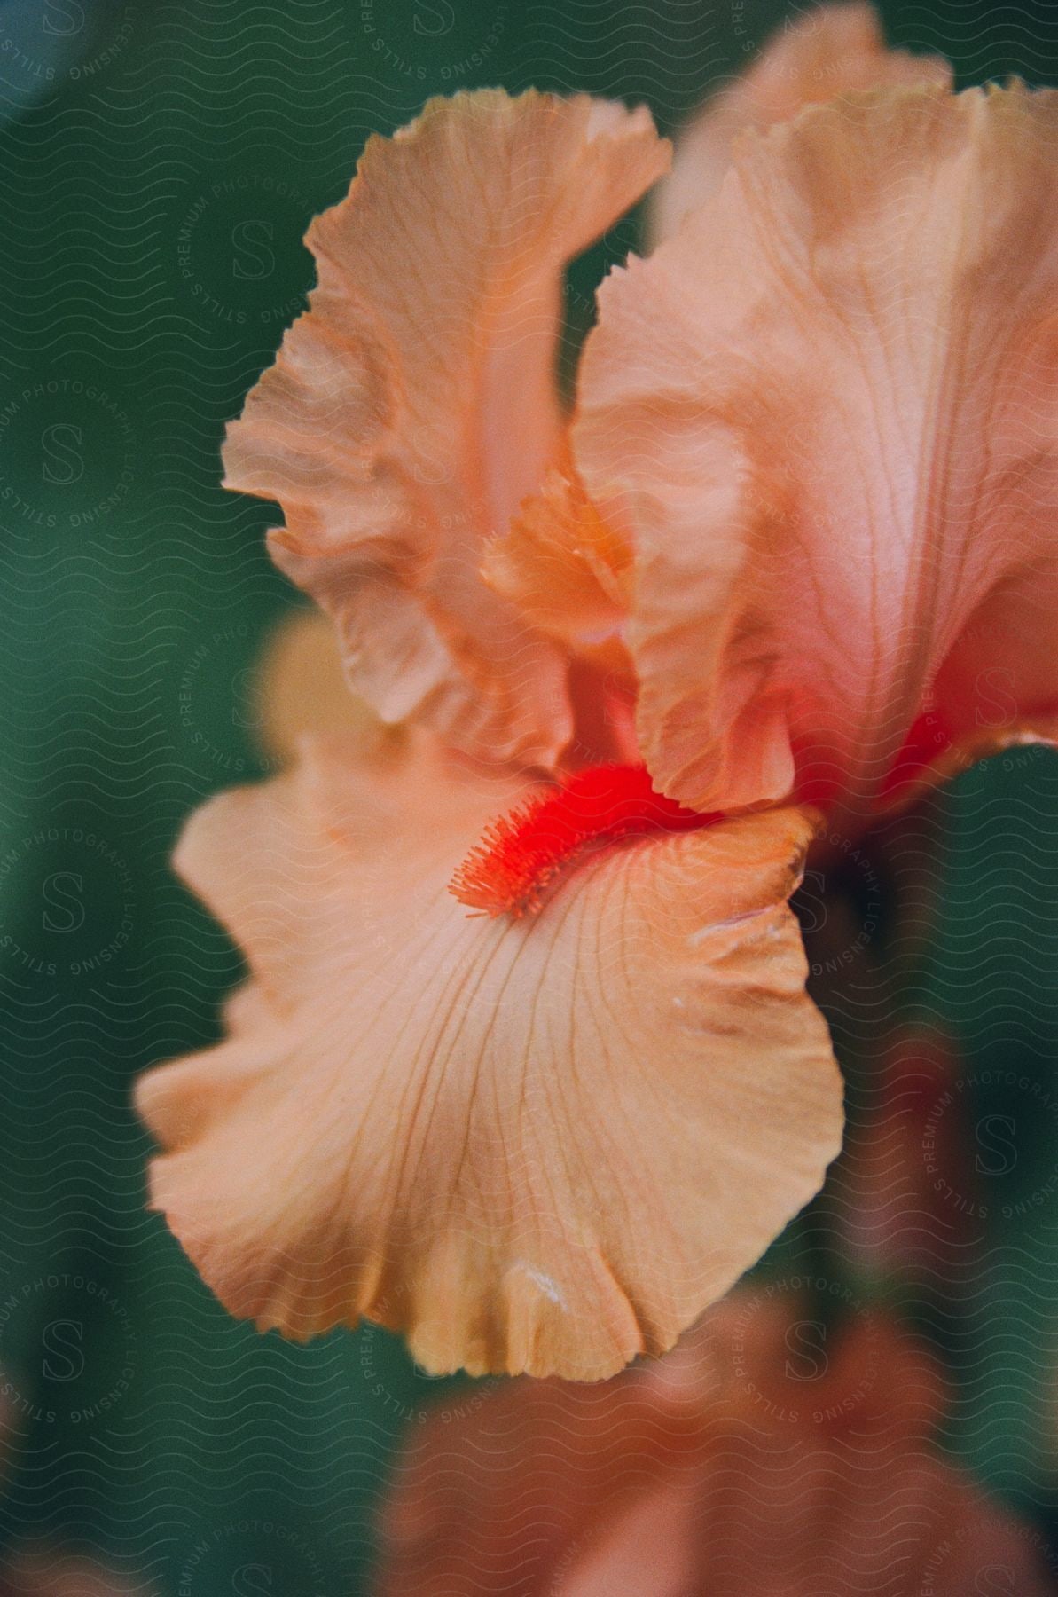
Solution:
[[[1056,134],[814,16],[688,134],[571,414],[563,270],[665,172],[646,112],[484,91],[369,142],[225,463],[405,730],[308,693],[327,735],[191,819],[251,981],[139,1097],[235,1314],[598,1378],[819,1190],[820,811],[1055,725]]]

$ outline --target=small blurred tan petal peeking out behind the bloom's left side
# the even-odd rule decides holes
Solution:
[[[319,610],[295,610],[276,626],[257,666],[255,701],[263,751],[284,765],[306,733],[356,738],[365,759],[401,736],[349,692],[334,626]]]

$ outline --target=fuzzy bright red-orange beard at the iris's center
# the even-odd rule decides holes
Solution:
[[[715,819],[654,792],[645,765],[590,765],[491,821],[448,890],[484,915],[536,915],[559,872],[587,850]]]

